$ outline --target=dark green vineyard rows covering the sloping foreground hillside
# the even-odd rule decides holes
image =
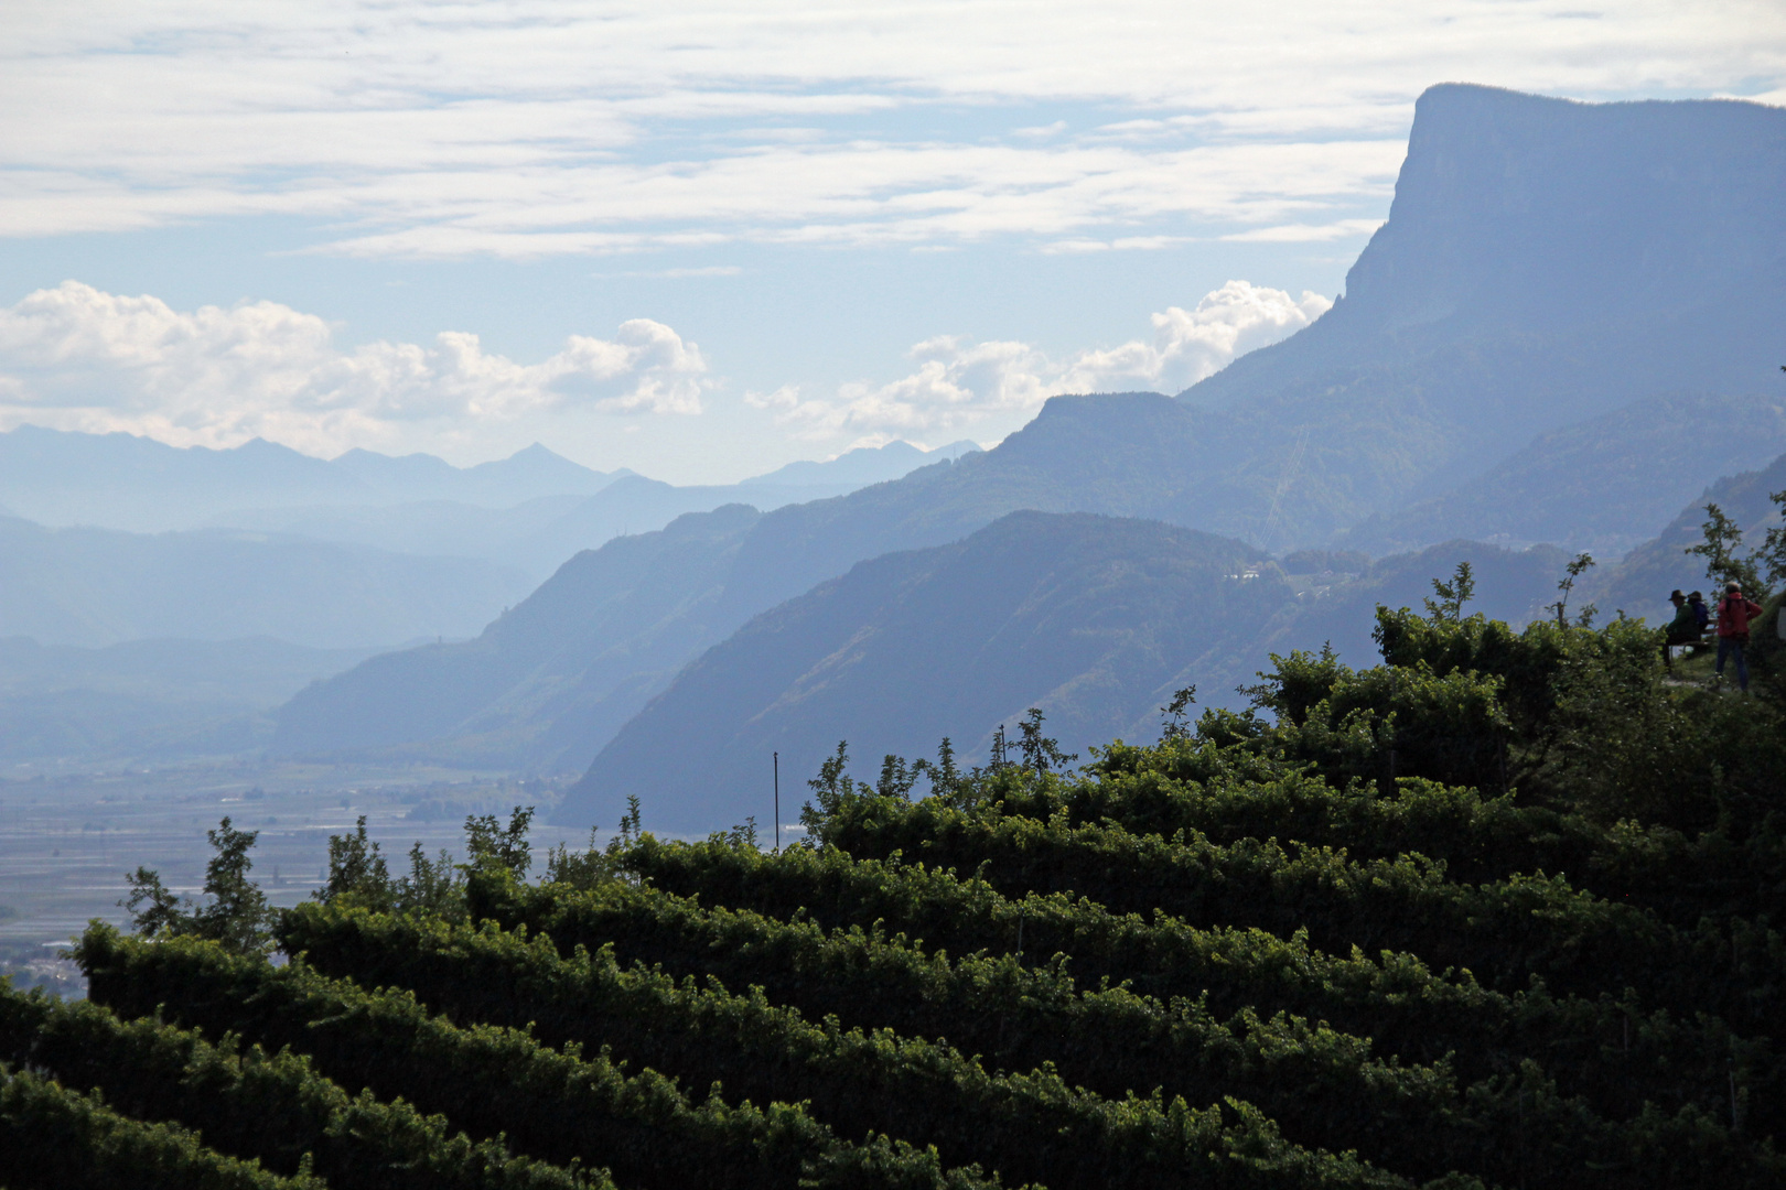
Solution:
[[[1625,619],[1377,637],[1082,767],[1039,712],[839,746],[780,851],[634,805],[536,874],[518,808],[393,878],[363,826],[275,912],[225,821],[88,1003],[0,996],[0,1183],[1786,1185],[1777,651],[1738,698]]]

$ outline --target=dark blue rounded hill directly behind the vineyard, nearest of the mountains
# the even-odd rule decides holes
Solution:
[[[943,735],[984,762],[1029,707],[1066,748],[1159,733],[1159,707],[1197,683],[1204,705],[1268,651],[1334,642],[1361,665],[1377,601],[1422,607],[1431,580],[1477,569],[1470,612],[1531,619],[1565,555],[1448,542],[1366,564],[1318,598],[1250,546],[1163,525],[1016,512],[964,541],[889,553],[757,616],[684,669],[600,751],[554,821],[613,826],[636,794],[652,830],[768,819],[780,753],[782,819],[848,740],[857,774],[882,755],[931,756]],[[1252,576],[1248,576],[1252,574]]]

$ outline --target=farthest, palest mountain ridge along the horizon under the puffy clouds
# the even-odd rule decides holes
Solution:
[[[679,487],[627,469],[591,471],[538,442],[455,467],[434,455],[350,450],[314,459],[261,439],[209,450],[20,426],[0,434],[0,510],[48,526],[234,528],[482,558],[539,583],[579,550],[663,528],[684,512],[839,496],[975,450],[968,441],[934,450],[893,441],[739,483]]]

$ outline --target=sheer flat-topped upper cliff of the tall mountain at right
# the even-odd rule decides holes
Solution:
[[[1386,335],[1554,334],[1779,293],[1782,187],[1786,111],[1432,87],[1348,316]]]

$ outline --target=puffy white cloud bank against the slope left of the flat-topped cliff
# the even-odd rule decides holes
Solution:
[[[916,369],[889,384],[843,385],[829,398],[802,396],[798,387],[786,385],[768,394],[747,393],[745,401],[813,439],[954,430],[998,414],[1032,414],[1063,393],[1177,393],[1234,357],[1302,330],[1331,307],[1316,293],[1293,298],[1282,289],[1231,280],[1191,310],[1168,307],[1154,314],[1152,339],[1050,359],[1027,343],[938,335],[916,344],[909,351]]]

